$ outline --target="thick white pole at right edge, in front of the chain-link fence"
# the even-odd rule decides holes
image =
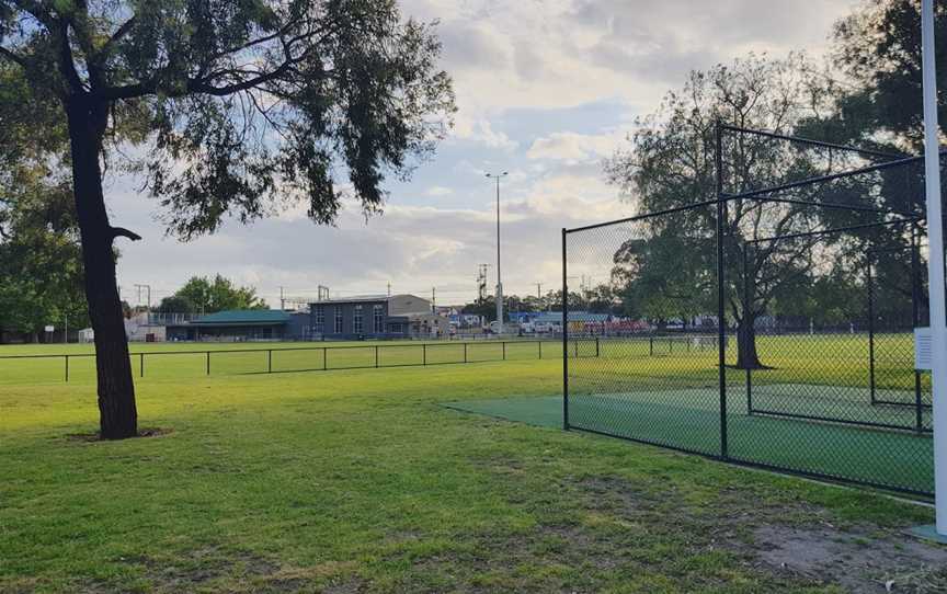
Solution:
[[[924,182],[927,197],[927,274],[931,290],[931,374],[934,391],[935,530],[947,537],[947,311],[944,284],[944,225],[940,212],[940,150],[937,124],[937,77],[934,59],[934,0],[921,4],[924,80]]]

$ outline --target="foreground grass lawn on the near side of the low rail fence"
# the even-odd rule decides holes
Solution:
[[[0,385],[0,592],[947,586],[947,557],[901,533],[927,507],[441,405],[560,382],[525,355],[146,373],[153,436],[116,443],[89,437],[90,380]],[[813,539],[824,570],[796,567]]]

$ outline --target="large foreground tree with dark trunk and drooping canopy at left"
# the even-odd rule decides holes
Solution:
[[[340,169],[369,215],[449,123],[438,54],[393,0],[0,0],[0,59],[49,113],[34,134],[68,133],[102,437],[137,434],[112,248],[140,237],[105,208],[115,149],[147,145],[138,171],[184,239],[286,202],[331,222]]]

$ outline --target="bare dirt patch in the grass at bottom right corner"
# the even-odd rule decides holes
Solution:
[[[852,592],[947,592],[947,547],[906,535],[768,524],[753,539],[763,564]]]

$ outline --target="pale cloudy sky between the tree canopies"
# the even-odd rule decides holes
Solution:
[[[402,0],[402,13],[437,20],[442,67],[454,79],[454,129],[409,182],[387,182],[384,214],[365,219],[352,204],[335,227],[305,209],[183,243],[166,236],[156,201],[135,180],[106,187],[116,226],[144,237],[119,241],[122,297],[145,304],[194,275],[252,285],[271,307],[279,287],[313,299],[413,293],[438,305],[477,295],[477,270],[495,284],[495,185],[501,184],[505,294],[536,294],[561,279],[563,227],[634,214],[606,183],[603,160],[636,117],[657,110],[693,69],[750,52],[811,56],[829,47],[832,23],[853,0]],[[344,181],[344,180],[341,180]]]

